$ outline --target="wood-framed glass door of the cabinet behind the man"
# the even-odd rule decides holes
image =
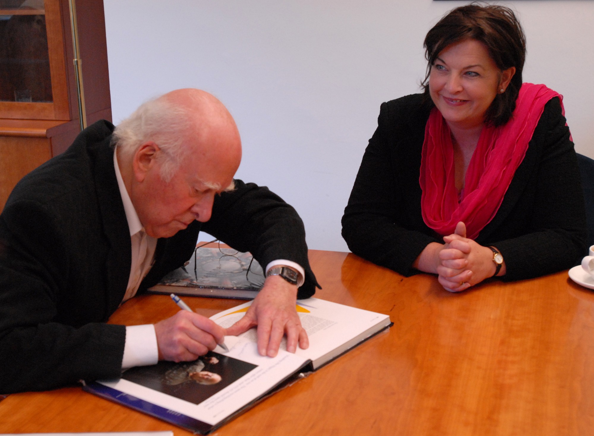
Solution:
[[[71,119],[60,8],[0,0],[0,118]]]

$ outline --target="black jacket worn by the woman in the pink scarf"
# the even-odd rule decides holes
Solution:
[[[353,253],[403,275],[419,272],[412,264],[429,243],[443,243],[421,215],[419,168],[430,109],[421,94],[381,105],[342,218]],[[587,253],[585,237],[576,153],[559,99],[553,98],[500,208],[476,242],[501,251],[503,280],[520,280],[575,265]]]

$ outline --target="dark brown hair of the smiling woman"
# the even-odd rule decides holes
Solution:
[[[522,86],[522,70],[526,58],[526,37],[520,22],[510,8],[472,3],[448,12],[425,36],[423,46],[427,59],[427,73],[422,83],[427,101],[429,73],[438,55],[448,46],[465,39],[482,42],[491,59],[501,71],[516,67],[505,92],[498,93],[485,113],[485,123],[502,126],[516,108]]]

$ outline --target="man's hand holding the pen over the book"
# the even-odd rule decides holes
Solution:
[[[223,342],[225,329],[198,313],[179,310],[154,325],[159,360],[195,360]]]

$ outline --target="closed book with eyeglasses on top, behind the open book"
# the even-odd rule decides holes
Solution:
[[[264,272],[250,253],[200,247],[187,264],[165,275],[149,293],[250,300],[264,285]]]

